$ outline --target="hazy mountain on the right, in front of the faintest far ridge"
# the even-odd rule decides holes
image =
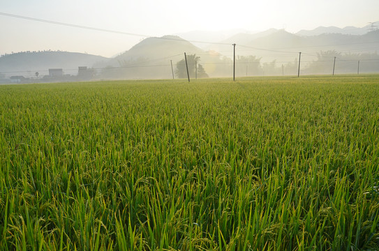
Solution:
[[[244,39],[246,36],[244,37]],[[379,31],[371,31],[362,36],[347,35],[341,33],[322,33],[318,36],[299,36],[279,30],[269,33],[267,36],[255,38],[250,42],[235,39],[236,56],[253,55],[260,58],[260,63],[276,62],[276,67],[282,64],[294,63],[302,52],[302,66],[309,65],[317,60],[320,52],[336,51],[352,54],[376,53],[378,50]],[[232,54],[232,46],[225,45],[223,54],[229,51]],[[332,57],[333,59],[333,57]]]

